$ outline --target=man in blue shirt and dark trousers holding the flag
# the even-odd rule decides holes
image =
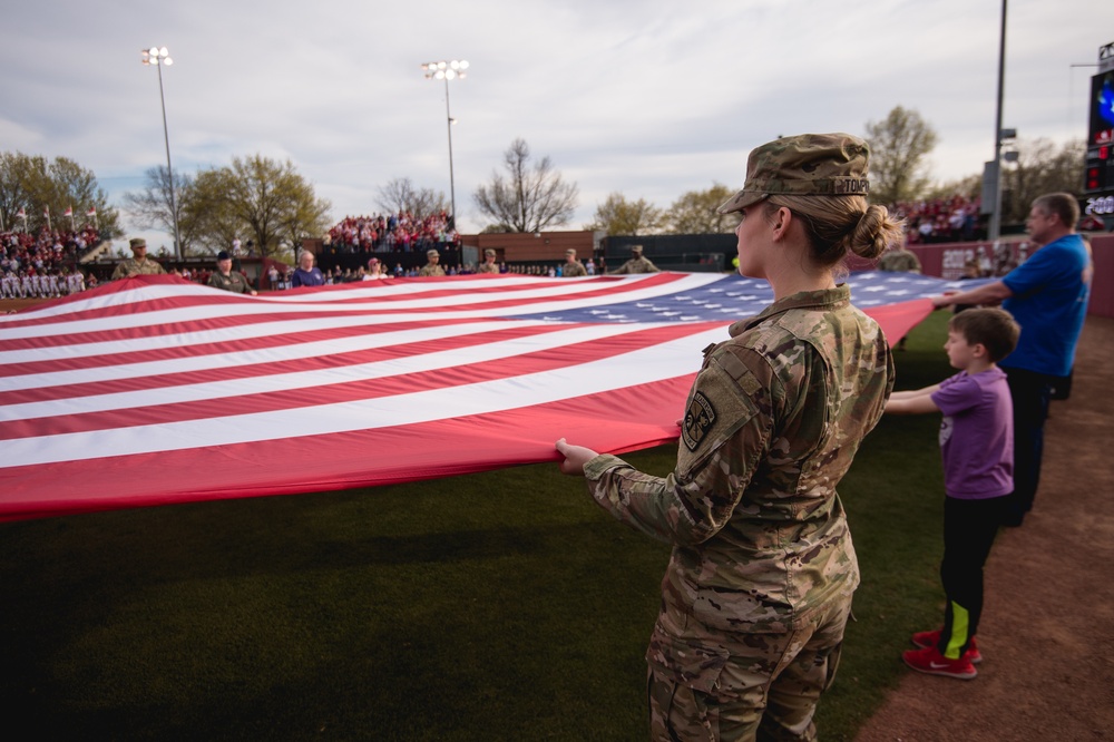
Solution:
[[[1006,526],[1020,526],[1033,508],[1048,402],[1053,387],[1072,373],[1087,313],[1093,269],[1083,238],[1075,233],[1078,221],[1075,196],[1040,196],[1025,222],[1029,237],[1040,246],[1032,257],[1000,281],[932,299],[936,307],[1001,302],[1022,325],[1017,349],[999,363],[1014,404],[1014,492],[1009,495]]]

